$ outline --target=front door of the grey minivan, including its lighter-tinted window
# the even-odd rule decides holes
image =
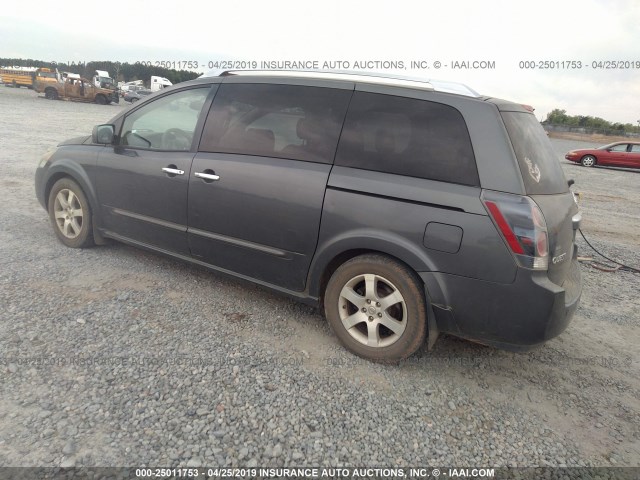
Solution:
[[[172,92],[125,116],[119,144],[103,149],[96,184],[108,235],[189,254],[187,193],[194,132],[210,87]]]

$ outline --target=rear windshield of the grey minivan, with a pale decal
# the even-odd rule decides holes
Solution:
[[[530,113],[501,112],[529,195],[568,190],[558,155],[546,132]]]

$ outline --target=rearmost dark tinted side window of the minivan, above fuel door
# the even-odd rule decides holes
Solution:
[[[467,126],[441,103],[356,92],[336,165],[479,185]]]

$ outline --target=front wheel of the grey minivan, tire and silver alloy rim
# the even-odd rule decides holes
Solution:
[[[95,245],[91,207],[80,186],[70,178],[58,180],[49,193],[49,218],[53,231],[67,247]]]

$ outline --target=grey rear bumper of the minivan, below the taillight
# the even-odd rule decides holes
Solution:
[[[546,272],[518,269],[511,284],[421,273],[438,330],[506,350],[528,350],[562,333],[582,294],[576,255],[562,286]]]

